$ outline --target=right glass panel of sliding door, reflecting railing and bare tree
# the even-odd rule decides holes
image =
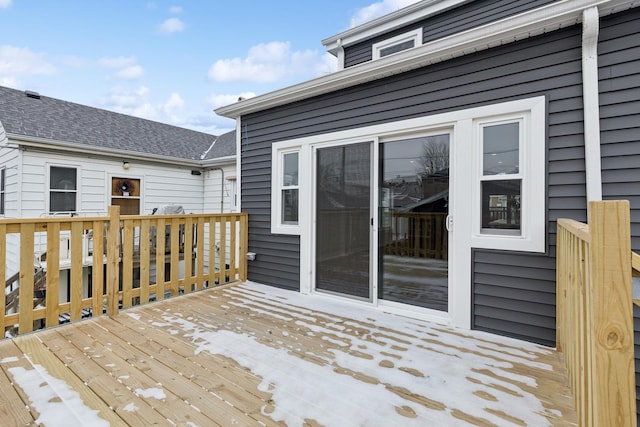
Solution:
[[[449,140],[380,145],[380,299],[447,311]]]

